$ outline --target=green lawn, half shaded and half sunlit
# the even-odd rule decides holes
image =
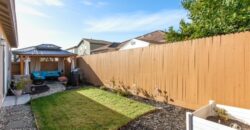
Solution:
[[[31,102],[39,129],[117,129],[155,108],[93,87]]]

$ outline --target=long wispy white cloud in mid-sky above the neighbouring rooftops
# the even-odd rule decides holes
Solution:
[[[186,18],[184,10],[118,14],[85,21],[84,30],[95,33],[149,31],[164,29],[169,26],[178,26],[182,18]]]

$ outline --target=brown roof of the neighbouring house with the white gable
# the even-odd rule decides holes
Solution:
[[[149,42],[151,44],[164,44],[164,43],[166,43],[165,34],[166,34],[166,32],[164,32],[164,31],[156,30],[154,32],[150,32],[150,33],[144,34],[142,36],[138,36],[138,37],[133,38],[133,39]],[[129,40],[122,42],[118,48],[119,49],[122,48],[130,40],[132,40],[132,39],[129,39]]]

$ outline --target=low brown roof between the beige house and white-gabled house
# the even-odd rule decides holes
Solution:
[[[120,43],[112,43],[110,45],[106,45],[103,47],[99,47],[97,49],[94,49],[91,51],[92,54],[97,54],[97,53],[104,53],[104,52],[111,52],[111,51],[116,51],[117,47],[120,45]]]

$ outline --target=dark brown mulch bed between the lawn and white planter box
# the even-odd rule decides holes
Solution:
[[[137,96],[129,97],[133,100],[150,104],[159,108],[155,112],[146,114],[128,123],[120,130],[185,130],[186,112],[192,111],[178,106],[156,102]]]

